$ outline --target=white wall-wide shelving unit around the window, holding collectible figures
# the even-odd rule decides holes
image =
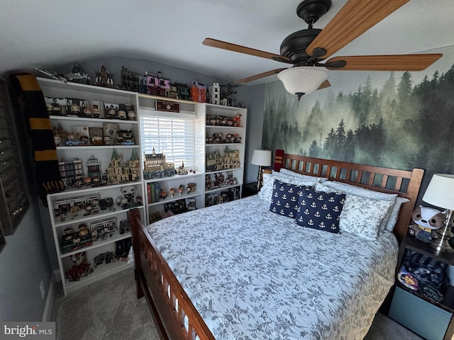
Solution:
[[[247,111],[245,108],[233,108],[228,106],[218,106],[209,103],[198,103],[194,101],[183,101],[178,99],[162,98],[159,96],[148,96],[145,94],[137,94],[130,91],[121,91],[117,89],[106,89],[97,86],[87,86],[84,84],[74,83],[63,83],[62,81],[56,81],[52,79],[38,79],[41,88],[43,89],[43,95],[48,98],[75,98],[83,100],[85,104],[92,102],[98,103],[114,103],[114,104],[126,104],[128,106],[134,106],[135,115],[132,115],[132,120],[128,120],[129,115],[126,115],[126,120],[118,119],[124,118],[121,115],[115,115],[114,119],[107,119],[103,115],[100,117],[89,118],[68,116],[58,114],[51,114],[50,120],[52,125],[58,127],[60,130],[66,132],[77,131],[89,131],[94,132],[97,130],[98,139],[96,141],[91,140],[89,137],[88,145],[78,145],[79,142],[68,142],[57,140],[60,145],[57,146],[57,157],[58,159],[64,159],[65,162],[71,164],[70,168],[74,168],[77,162],[79,168],[83,168],[83,172],[87,173],[89,168],[87,164],[93,162],[100,167],[101,179],[97,179],[94,176],[94,180],[99,181],[101,185],[92,186],[93,184],[85,185],[81,179],[75,179],[72,177],[71,181],[65,178],[65,181],[69,183],[68,188],[62,193],[54,193],[48,195],[48,207],[50,213],[50,220],[52,224],[52,231],[54,234],[55,249],[57,250],[57,257],[60,266],[60,275],[62,277],[62,285],[65,295],[80,287],[105,278],[106,276],[128,268],[128,263],[123,261],[115,261],[111,263],[102,263],[94,268],[93,273],[89,273],[88,276],[83,276],[79,280],[69,280],[68,273],[73,266],[73,258],[79,256],[81,251],[86,254],[86,261],[88,263],[94,263],[94,259],[103,252],[113,252],[116,249],[118,242],[124,242],[128,239],[130,234],[128,232],[118,234],[118,231],[113,233],[112,237],[107,237],[102,241],[92,241],[91,244],[86,242],[86,246],[80,249],[70,249],[63,251],[63,239],[65,229],[71,228],[73,232],[79,229],[79,225],[86,225],[87,229],[92,228],[92,225],[99,224],[99,222],[110,221],[116,219],[116,225],[118,226],[120,221],[126,220],[128,216],[128,210],[132,208],[140,208],[141,217],[147,223],[153,222],[150,216],[156,213],[164,213],[169,208],[179,208],[181,200],[184,200],[187,207],[190,208],[204,208],[206,206],[207,198],[212,196],[223,197],[223,200],[231,200],[240,198],[241,186],[243,184],[243,166],[245,159],[245,135],[246,135],[246,121]],[[152,178],[144,179],[143,177],[143,148],[140,146],[140,111],[152,111],[152,114],[165,116],[166,113],[155,110],[156,101],[166,101],[170,103],[179,104],[179,113],[185,115],[194,116],[194,166],[192,171],[184,175],[174,175],[164,178]],[[48,101],[49,103],[49,101]],[[81,110],[82,111],[82,110]],[[68,112],[74,115],[68,108]],[[106,110],[104,112],[109,112]],[[209,118],[220,117],[226,120],[226,122],[215,123],[211,125]],[[117,119],[115,119],[117,118]],[[240,123],[238,122],[240,118]],[[234,120],[235,119],[235,120]],[[208,123],[207,123],[208,122]],[[106,127],[106,124],[111,124],[112,127]],[[109,130],[110,128],[110,130]],[[99,140],[99,133],[101,131],[101,137],[105,137],[109,131],[117,130],[122,134],[127,132],[127,140],[121,144],[118,140]],[[106,132],[108,131],[108,132]],[[131,140],[131,132],[133,139]],[[216,143],[209,143],[209,136],[222,134],[223,139],[227,135],[231,135],[231,139],[228,141],[215,141]],[[235,138],[236,137],[236,138]],[[240,138],[238,138],[240,137]],[[229,169],[231,166],[217,166],[215,168],[207,168],[206,162],[213,154],[214,150],[218,150],[221,156],[226,152],[233,152],[235,158],[235,166],[233,169]],[[228,151],[229,150],[229,151]],[[160,150],[156,150],[160,152]],[[113,159],[121,157],[122,161],[138,162],[138,175],[136,172],[129,172],[128,176],[123,177],[121,183],[111,184],[113,181],[110,180],[109,176],[106,176],[106,167],[113,162]],[[76,161],[74,161],[76,159]],[[231,160],[230,160],[231,161]],[[232,162],[227,162],[231,164]],[[60,167],[66,167],[65,162],[60,163]],[[226,162],[223,162],[225,164]],[[100,164],[100,165],[99,165]],[[180,164],[175,164],[178,167]],[[77,168],[78,170],[80,170]],[[66,168],[65,168],[66,169]],[[112,168],[109,166],[109,169]],[[131,168],[129,168],[131,169]],[[130,170],[131,171],[131,170]],[[103,176],[104,174],[104,176]],[[65,175],[66,176],[66,175]],[[212,178],[222,178],[222,183],[216,182],[216,185],[207,183]],[[230,179],[230,181],[227,181]],[[167,196],[165,198],[157,198],[153,202],[149,202],[150,194],[148,193],[148,187],[159,183],[160,187],[165,189]],[[191,184],[191,191],[187,191],[187,187]],[[126,200],[126,196],[123,193],[123,187],[133,186],[135,188],[135,194],[133,196],[134,205],[131,206]],[[177,192],[177,188],[182,186],[183,192],[180,194]],[[173,195],[170,193],[170,189],[175,188]],[[225,194],[227,192],[227,194]],[[229,193],[230,192],[230,193]],[[224,195],[224,196],[223,196]],[[110,202],[111,204],[106,209],[96,208],[92,212],[79,212],[80,215],[76,217],[70,213],[60,215],[60,205],[65,207],[65,201],[71,204],[77,203],[77,200],[87,200],[87,197],[91,202],[94,199],[96,202],[99,200],[104,202]],[[93,198],[94,196],[95,198]],[[139,200],[140,198],[140,200]],[[118,200],[118,205],[116,201]],[[126,205],[123,205],[123,201],[126,200]],[[71,203],[74,201],[75,203]],[[219,203],[219,199],[216,199],[215,203]],[[98,202],[98,203],[99,203]],[[211,204],[211,203],[210,203]],[[90,205],[90,204],[88,204]],[[106,222],[107,223],[107,222]]]

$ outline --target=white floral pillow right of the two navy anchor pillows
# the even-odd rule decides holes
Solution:
[[[373,200],[352,194],[345,196],[339,228],[364,239],[376,239],[380,224],[388,209],[394,204],[389,200]]]

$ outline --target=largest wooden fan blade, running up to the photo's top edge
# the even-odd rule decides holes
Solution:
[[[408,1],[349,0],[309,44],[306,53],[313,55],[314,49],[321,48],[326,50],[326,53],[321,54],[324,51],[320,54],[316,53],[317,57],[324,59],[333,55]]]

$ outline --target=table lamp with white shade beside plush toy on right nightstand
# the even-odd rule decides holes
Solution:
[[[452,253],[454,249],[448,241],[454,236],[453,232],[451,232],[454,213],[454,175],[434,174],[430,183],[428,183],[423,201],[445,209],[443,212],[445,214],[445,222],[437,230],[438,239],[430,244],[431,247],[437,251]]]

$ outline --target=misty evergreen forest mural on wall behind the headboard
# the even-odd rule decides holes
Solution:
[[[433,51],[431,51],[433,52]],[[421,72],[330,73],[331,87],[298,102],[267,84],[263,149],[454,174],[454,49]]]

